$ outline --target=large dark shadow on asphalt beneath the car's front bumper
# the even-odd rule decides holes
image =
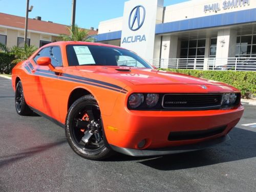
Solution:
[[[178,170],[256,157],[256,133],[235,127],[231,140],[205,150],[161,157],[115,155],[107,161],[138,161],[159,170]]]

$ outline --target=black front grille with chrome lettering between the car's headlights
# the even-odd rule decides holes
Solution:
[[[166,94],[164,109],[205,109],[221,106],[222,94]]]

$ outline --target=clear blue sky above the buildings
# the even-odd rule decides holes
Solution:
[[[98,28],[100,21],[122,16],[125,1],[127,0],[77,0],[76,24],[87,29]],[[164,0],[164,6],[186,1],[189,0]],[[0,0],[0,12],[26,16],[26,2]],[[30,0],[30,5],[33,5],[34,9],[29,13],[29,18],[41,16],[42,20],[70,25],[71,4],[72,0]]]

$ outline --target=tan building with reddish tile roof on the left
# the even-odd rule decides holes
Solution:
[[[49,20],[42,20],[40,16],[28,19],[27,44],[37,48],[50,42],[61,40],[60,34],[69,35],[66,25],[56,24]],[[0,13],[0,43],[11,48],[13,46],[24,47],[25,17]],[[97,30],[91,28],[90,35],[97,34]]]

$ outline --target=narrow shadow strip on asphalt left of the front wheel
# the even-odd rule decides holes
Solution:
[[[0,157],[0,168],[2,166],[11,164],[11,163],[16,162],[18,160],[22,160],[24,158],[28,158],[30,156],[33,156],[37,153],[47,151],[52,147],[62,145],[66,142],[67,142],[66,139],[65,140],[60,140],[58,142],[48,143],[48,144],[45,144],[45,145],[40,145],[40,146],[28,148],[27,150],[24,150],[23,152],[18,153],[18,154],[13,154],[13,155],[8,155],[8,156],[1,156]]]

